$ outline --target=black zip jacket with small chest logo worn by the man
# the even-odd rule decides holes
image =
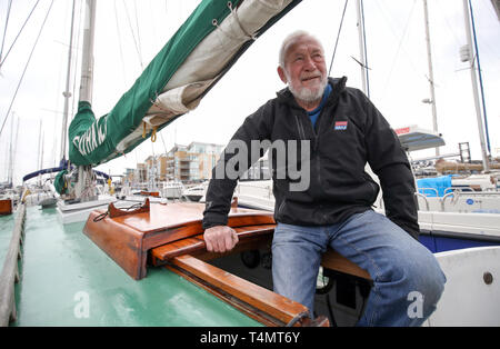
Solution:
[[[259,152],[250,151],[256,141],[269,140],[273,150],[276,221],[332,225],[371,209],[379,186],[364,171],[368,162],[380,179],[386,216],[418,238],[414,180],[404,150],[377,108],[360,90],[347,88],[346,81],[347,78],[329,79],[332,92],[316,128],[288,89],[279,91],[277,98],[246,119],[212,171],[203,213],[204,229],[226,225],[228,220],[237,179],[221,177],[220,170],[229,166],[241,174],[267,150],[262,147]],[[239,152],[243,143],[249,150],[244,154],[248,161],[234,166],[234,156],[243,154]],[[230,150],[231,144],[239,146],[238,150]],[[284,162],[278,153],[281,150],[283,154],[283,144]],[[290,151],[297,160],[290,158]],[[301,173],[299,179],[297,173]],[[301,186],[308,185],[306,189],[290,190],[300,181]]]

